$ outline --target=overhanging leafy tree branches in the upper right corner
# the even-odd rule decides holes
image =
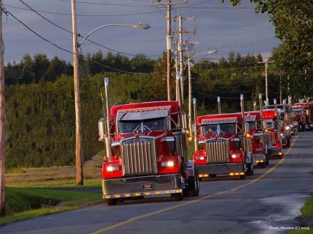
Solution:
[[[224,1],[224,0],[222,0]],[[256,3],[256,12],[267,12],[275,26],[276,37],[282,40],[277,69],[284,72],[284,85],[292,86],[289,95],[297,100],[312,97],[313,80],[313,1],[303,0],[250,0]],[[230,0],[234,6],[241,0]],[[309,87],[309,88],[308,88]]]

